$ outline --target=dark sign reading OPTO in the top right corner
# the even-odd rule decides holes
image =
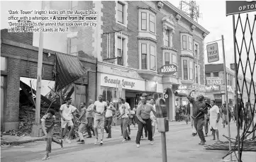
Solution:
[[[256,1],[226,1],[226,16],[256,11]]]

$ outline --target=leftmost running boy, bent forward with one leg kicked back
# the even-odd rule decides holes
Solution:
[[[49,153],[52,151],[52,141],[55,142],[56,144],[60,144],[61,148],[63,148],[62,139],[60,141],[57,141],[52,138],[55,121],[56,121],[55,110],[52,110],[52,109],[49,109],[47,114],[44,115],[41,119],[42,129],[43,129],[43,133],[45,134],[45,141],[46,141],[46,153],[42,159],[43,161],[49,159]]]

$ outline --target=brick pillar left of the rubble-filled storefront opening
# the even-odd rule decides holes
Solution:
[[[18,122],[19,88],[20,88],[20,60],[8,59],[7,91],[5,122]]]

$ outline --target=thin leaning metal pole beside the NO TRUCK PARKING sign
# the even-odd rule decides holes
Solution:
[[[230,123],[229,123],[229,113],[228,113],[228,84],[227,84],[227,72],[226,72],[226,59],[225,59],[225,47],[224,47],[224,37],[221,35],[222,40],[222,50],[223,50],[223,69],[224,69],[224,83],[225,83],[225,94],[226,94],[226,109],[228,116],[228,138],[230,138]],[[225,124],[225,123],[224,123]],[[229,151],[231,151],[231,142],[228,140]],[[232,154],[230,154],[230,161],[232,161]]]

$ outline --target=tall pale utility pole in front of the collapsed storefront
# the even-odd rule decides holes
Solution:
[[[44,1],[42,1],[42,10],[44,10]],[[40,31],[43,26],[40,26]],[[42,82],[42,66],[43,66],[43,32],[39,35],[39,50],[38,50],[38,76],[36,82],[36,100],[35,100],[35,122],[33,123],[31,136],[42,136],[40,126],[40,107],[41,107],[41,82]]]

